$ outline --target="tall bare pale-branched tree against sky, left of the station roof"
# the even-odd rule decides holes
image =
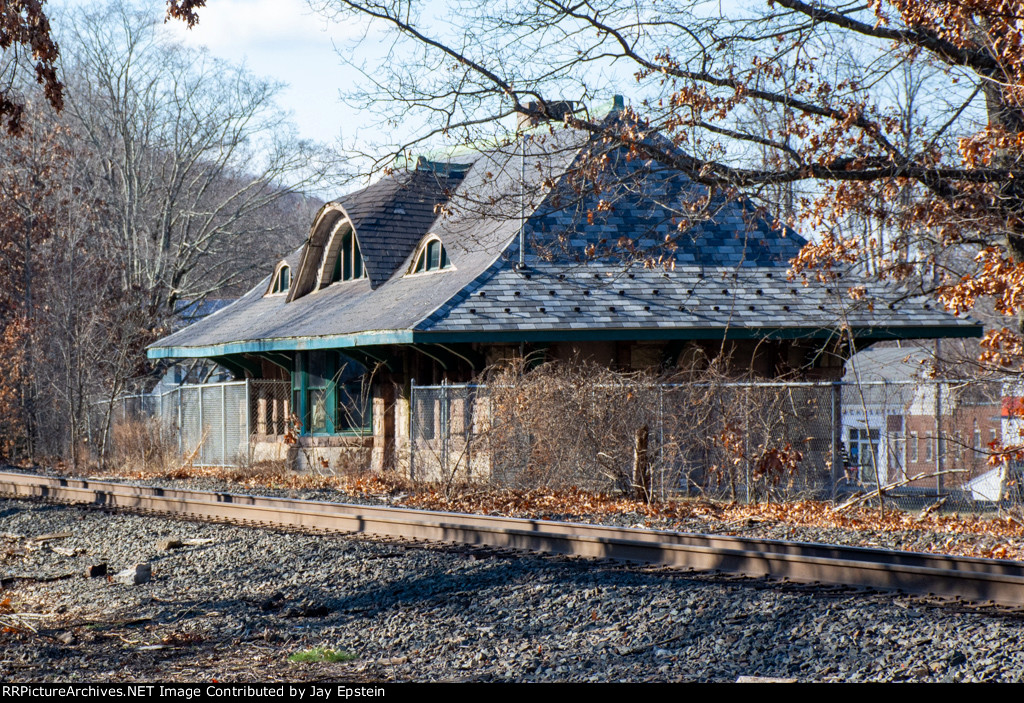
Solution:
[[[119,247],[111,263],[155,315],[251,279],[301,240],[303,199],[338,161],[295,137],[278,86],[185,51],[128,5],[67,25],[68,113],[97,155]],[[299,208],[291,217],[283,210]],[[247,278],[248,277],[248,278]]]

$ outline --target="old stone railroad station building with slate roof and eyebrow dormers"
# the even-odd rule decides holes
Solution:
[[[287,382],[253,409],[266,455],[294,415],[300,445],[359,449],[381,469],[402,463],[414,381],[468,382],[509,357],[637,369],[724,353],[737,375],[839,379],[876,341],[980,335],[849,272],[791,280],[804,244],[743,197],[536,125],[328,203],[263,281],[148,355]]]

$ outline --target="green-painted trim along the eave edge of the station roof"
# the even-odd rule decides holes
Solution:
[[[911,340],[933,338],[981,337],[983,327],[976,325],[880,326],[854,327],[858,340]],[[352,347],[453,344],[468,342],[614,342],[656,340],[797,340],[835,339],[839,332],[822,327],[721,327],[667,328],[591,328],[591,329],[502,329],[476,332],[414,332],[412,329],[362,332],[326,337],[283,338],[229,342],[204,347],[150,347],[151,359],[209,358],[226,354],[257,354],[272,351],[311,351],[315,349],[348,349]]]

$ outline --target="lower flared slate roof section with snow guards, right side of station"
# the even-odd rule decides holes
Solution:
[[[853,300],[846,285],[805,287],[787,280],[785,270],[775,266],[664,270],[603,262],[574,268],[542,263],[517,271],[504,265],[418,328],[697,333],[731,327],[767,335],[773,329],[827,334],[844,324],[890,331],[971,324],[922,300],[894,304],[893,309],[878,303],[896,293],[874,285],[867,297]]]

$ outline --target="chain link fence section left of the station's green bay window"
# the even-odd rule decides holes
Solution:
[[[200,467],[246,466],[259,442],[280,443],[291,422],[287,381],[180,386],[93,404],[89,441],[106,452],[156,454]]]

